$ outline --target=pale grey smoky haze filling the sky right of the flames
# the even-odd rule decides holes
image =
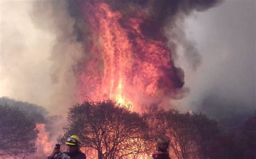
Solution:
[[[193,71],[184,55],[178,62],[190,87],[181,102],[184,110],[218,120],[242,119],[256,110],[255,5],[250,0],[225,1],[186,20],[186,33],[196,42],[202,63]]]

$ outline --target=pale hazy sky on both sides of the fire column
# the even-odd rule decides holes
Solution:
[[[32,3],[1,0],[0,97],[9,96],[48,109],[57,103],[66,107],[74,102],[73,90],[63,89],[76,86],[70,85],[75,80],[70,72],[73,63],[54,68],[60,71],[60,78],[53,82],[56,80],[52,79],[55,66],[52,48],[57,36],[55,32],[38,28],[38,23],[35,25]],[[181,110],[196,109],[195,105],[206,95],[255,107],[255,5],[251,0],[226,0],[206,12],[194,12],[186,19],[187,37],[197,46],[202,60],[197,70],[191,69],[180,48],[176,63],[184,69],[185,85],[190,88],[186,97],[177,102]],[[45,14],[50,13],[45,10]],[[67,33],[72,32],[69,30],[72,23],[70,19]],[[64,41],[67,50],[79,49],[77,44],[68,42]],[[70,75],[70,81],[62,79],[62,74]]]

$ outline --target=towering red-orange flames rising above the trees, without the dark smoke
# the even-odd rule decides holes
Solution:
[[[137,106],[143,104],[142,99],[171,97],[183,86],[161,33],[158,40],[143,34],[146,13],[138,11],[127,18],[100,1],[85,2],[82,10],[90,28],[87,59],[78,78],[81,101],[113,99]]]

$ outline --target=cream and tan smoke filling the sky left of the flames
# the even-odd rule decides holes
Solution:
[[[73,69],[82,46],[65,1],[1,1],[0,96],[63,114],[77,102]]]

